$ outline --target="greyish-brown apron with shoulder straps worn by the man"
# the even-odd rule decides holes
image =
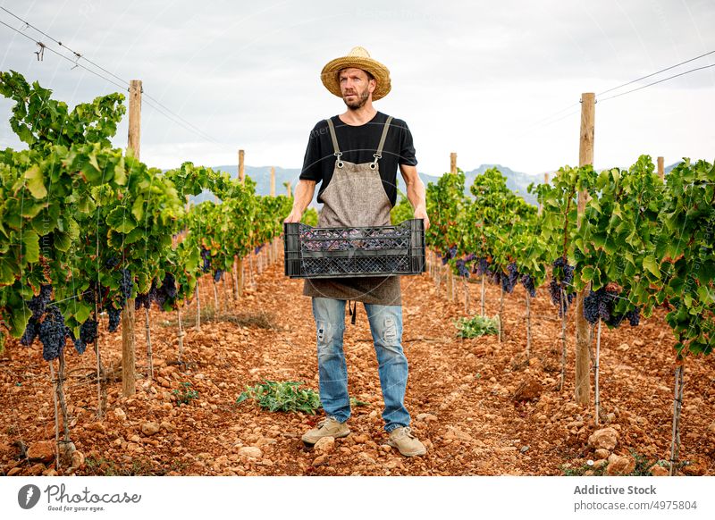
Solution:
[[[324,205],[318,216],[319,228],[390,225],[390,199],[385,193],[377,161],[383,156],[391,121],[390,116],[385,122],[377,153],[373,155],[374,161],[355,164],[341,160],[342,152],[338,147],[332,120],[327,120],[336,160],[330,184],[321,196]],[[402,305],[399,275],[306,279],[303,294],[384,306]],[[355,323],[352,309],[350,315]]]

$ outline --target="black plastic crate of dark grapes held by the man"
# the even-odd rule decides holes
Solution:
[[[314,228],[283,222],[290,278],[355,278],[425,273],[425,222],[394,226]]]

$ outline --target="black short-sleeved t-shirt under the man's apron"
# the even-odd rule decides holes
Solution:
[[[383,135],[384,123],[387,114],[378,112],[374,118],[360,126],[351,126],[342,122],[337,115],[332,116],[332,125],[335,127],[335,136],[338,138],[338,147],[342,152],[342,160],[350,163],[372,163],[373,154],[377,151],[380,138]],[[322,120],[310,132],[307,143],[306,157],[303,160],[303,169],[300,172],[301,180],[315,180],[322,182],[318,191],[317,201],[323,203],[321,195],[332,179],[332,170],[335,167],[334,149],[328,122]],[[397,200],[397,169],[398,164],[416,166],[415,147],[412,144],[412,133],[408,124],[401,119],[392,119],[390,130],[387,132],[383,147],[383,157],[378,160],[380,177],[383,188],[390,204],[395,205]]]

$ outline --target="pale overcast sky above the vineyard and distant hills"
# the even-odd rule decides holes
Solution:
[[[364,46],[391,71],[377,110],[412,130],[420,172],[498,163],[539,173],[578,160],[582,92],[600,93],[715,50],[715,0],[236,2],[0,0],[0,5],[122,80],[212,140],[151,106],[141,158],[169,168],[246,164],[299,168],[315,122],[345,105],[320,81],[324,64]],[[0,20],[22,29],[0,11]],[[25,34],[60,49],[33,29]],[[20,71],[73,106],[114,85],[0,26],[2,70]],[[85,65],[87,62],[80,62]],[[715,54],[601,96],[596,167],[640,154],[715,158],[715,67],[614,99]],[[100,71],[101,74],[119,82]],[[20,147],[0,100],[0,146]],[[566,110],[564,110],[566,109]],[[126,146],[126,122],[115,145]]]

